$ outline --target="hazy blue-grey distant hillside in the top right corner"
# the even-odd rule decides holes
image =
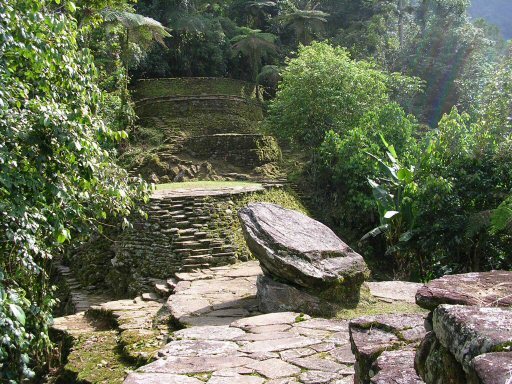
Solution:
[[[472,0],[471,16],[482,17],[500,27],[506,39],[512,38],[512,1],[509,0]]]

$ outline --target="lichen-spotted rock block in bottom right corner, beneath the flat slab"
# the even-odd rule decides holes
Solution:
[[[512,354],[499,351],[511,345],[512,309],[443,304],[434,311],[433,330],[415,365],[426,383],[507,383]]]

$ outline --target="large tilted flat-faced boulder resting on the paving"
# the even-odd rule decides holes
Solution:
[[[361,255],[325,225],[268,203],[239,211],[247,245],[266,275],[332,301],[358,298],[368,275]]]

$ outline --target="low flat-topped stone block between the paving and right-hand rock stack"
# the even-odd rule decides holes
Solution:
[[[426,334],[424,322],[424,316],[411,314],[352,320],[349,330],[352,352],[357,360],[354,366],[356,382],[370,383],[372,365],[384,351],[418,344]]]

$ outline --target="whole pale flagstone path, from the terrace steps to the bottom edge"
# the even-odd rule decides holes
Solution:
[[[260,274],[254,261],[178,273],[166,305],[186,328],[174,332],[159,358],[130,373],[125,384],[353,383],[348,322],[293,312],[260,314]],[[378,285],[372,291],[379,291]],[[401,300],[413,301],[413,290],[404,291],[411,293]]]

